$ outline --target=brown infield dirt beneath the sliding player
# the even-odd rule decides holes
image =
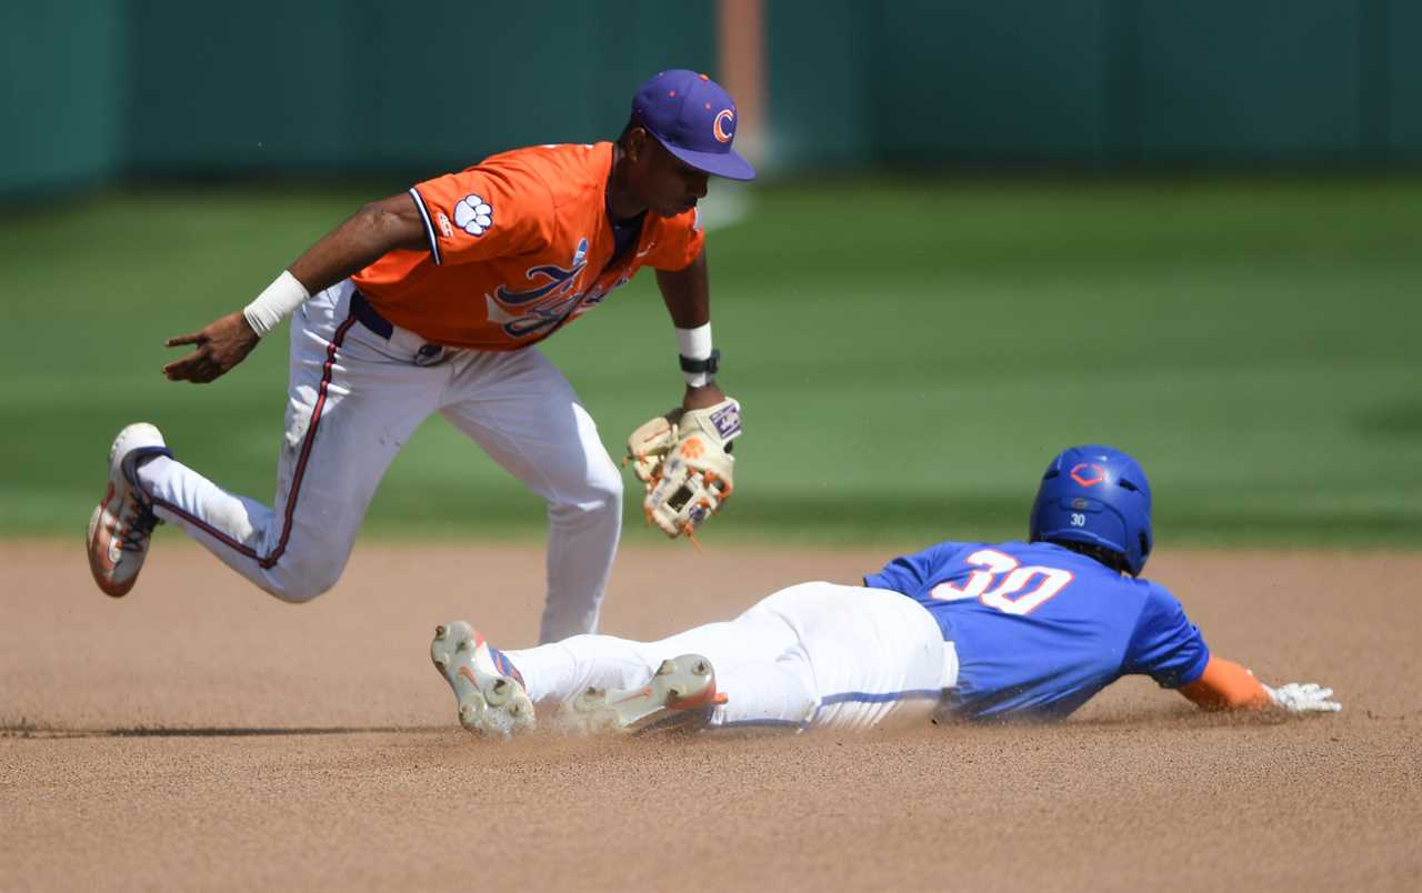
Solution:
[[[886,557],[626,549],[603,629]],[[1422,889],[1422,556],[1152,562],[1217,653],[1337,715],[1128,680],[1055,727],[512,744],[459,729],[428,643],[462,617],[529,644],[535,547],[363,543],[307,606],[173,536],[117,601],[78,545],[0,559],[6,890]]]

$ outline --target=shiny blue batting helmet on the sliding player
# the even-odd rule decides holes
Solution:
[[[1031,542],[1101,546],[1138,576],[1150,555],[1150,483],[1140,464],[1111,446],[1064,449],[1042,475],[1028,522]]]

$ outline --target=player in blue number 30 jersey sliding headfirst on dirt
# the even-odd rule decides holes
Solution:
[[[792,586],[661,641],[577,636],[502,653],[461,621],[435,631],[431,656],[459,721],[486,734],[532,727],[535,704],[584,729],[1061,720],[1128,674],[1206,710],[1340,710],[1330,688],[1271,687],[1213,654],[1175,596],[1140,579],[1150,486],[1129,455],[1054,458],[1028,532],[939,543],[863,586]]]

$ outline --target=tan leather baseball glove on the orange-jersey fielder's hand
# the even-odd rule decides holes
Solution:
[[[731,496],[741,435],[741,404],[727,398],[705,410],[673,410],[627,438],[627,461],[647,485],[641,509],[648,523],[675,539],[695,540],[701,523]]]

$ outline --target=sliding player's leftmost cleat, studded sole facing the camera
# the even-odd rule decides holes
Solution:
[[[454,688],[459,724],[471,732],[508,738],[533,728],[533,701],[523,675],[468,623],[455,620],[435,627],[429,660]]]

